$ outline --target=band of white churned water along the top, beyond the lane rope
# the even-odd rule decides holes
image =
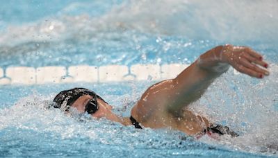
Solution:
[[[72,5],[77,4],[71,3],[68,8],[72,8]],[[1,34],[0,45],[92,40],[92,37],[103,36],[103,33],[106,34],[104,38],[118,39],[113,34],[107,36],[107,33],[125,30],[140,30],[155,35],[182,35],[194,40],[244,43],[261,41],[263,38],[265,43],[277,42],[278,2],[275,0],[237,3],[228,0],[124,1],[110,12],[98,16],[81,11],[88,10],[88,5],[78,3],[80,11],[77,15],[61,10],[54,18],[23,26],[8,25]],[[12,43],[6,42],[12,39]]]

